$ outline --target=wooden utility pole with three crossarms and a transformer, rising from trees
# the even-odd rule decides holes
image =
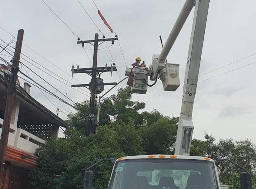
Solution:
[[[92,42],[94,42],[93,67],[92,68],[78,67],[77,69],[72,68],[72,73],[87,73],[91,75],[91,82],[89,84],[71,85],[71,87],[89,87],[91,91],[89,116],[87,117],[86,124],[85,124],[86,136],[88,136],[89,134],[95,133],[95,130],[96,130],[96,123],[94,118],[96,94],[99,94],[104,90],[104,85],[116,85],[116,83],[103,83],[103,80],[97,77],[97,76],[100,76],[100,74],[103,72],[117,71],[115,64],[111,66],[106,65],[105,67],[97,67],[98,46],[105,41],[111,41],[112,44],[114,44],[115,40],[118,40],[117,35],[115,36],[115,38],[105,39],[105,36],[103,36],[103,39],[99,39],[99,34],[95,33],[95,37],[93,40],[83,40],[83,41],[77,42],[77,44],[82,44],[82,47],[84,46],[85,43],[91,44]],[[101,43],[99,44],[99,42]],[[97,79],[101,82],[98,82]],[[101,87],[101,89],[99,90],[96,90],[97,86],[98,87],[103,86],[103,87]]]

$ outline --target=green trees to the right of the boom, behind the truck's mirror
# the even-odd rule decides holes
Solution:
[[[206,156],[212,159],[229,159],[240,166],[246,168],[251,175],[252,180],[256,179],[256,146],[252,141],[234,141],[232,138],[215,142],[215,138],[205,134],[205,141],[193,139],[191,143],[190,155]],[[221,183],[230,185],[233,189],[240,188],[239,172],[237,168],[229,162],[221,162],[219,165],[219,179]],[[253,184],[256,184],[253,182]],[[256,187],[256,185],[255,185]]]

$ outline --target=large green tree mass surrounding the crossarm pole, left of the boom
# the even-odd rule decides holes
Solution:
[[[49,140],[36,151],[39,164],[30,174],[33,188],[81,188],[84,170],[102,158],[172,153],[170,147],[175,141],[177,118],[165,117],[156,110],[140,114],[145,104],[131,98],[130,87],[127,87],[103,99],[101,126],[88,137],[83,133],[89,102],[75,104],[80,111],[68,116],[70,127],[65,131],[65,138]],[[108,162],[96,166],[93,186],[107,188],[111,170]]]

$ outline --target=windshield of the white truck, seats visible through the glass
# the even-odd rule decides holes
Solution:
[[[181,159],[118,161],[109,189],[218,189],[213,162]]]

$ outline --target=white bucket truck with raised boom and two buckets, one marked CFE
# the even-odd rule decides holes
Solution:
[[[178,65],[165,64],[165,60],[189,13],[195,6],[175,154],[127,156],[117,160],[105,159],[114,162],[108,189],[220,189],[217,166],[221,161],[229,161],[238,166],[242,170],[240,173],[241,189],[252,189],[250,174],[235,162],[189,156],[194,129],[192,110],[209,2],[210,0],[186,0],[161,53],[153,55],[152,65],[149,68],[126,69],[126,75],[130,75],[134,79],[132,93],[145,94],[147,86],[149,86],[147,83],[148,76],[150,80],[155,81],[160,78],[164,90],[175,91],[179,86]],[[92,188],[93,172],[90,169],[93,166],[85,170],[83,180],[83,188],[85,189]]]

